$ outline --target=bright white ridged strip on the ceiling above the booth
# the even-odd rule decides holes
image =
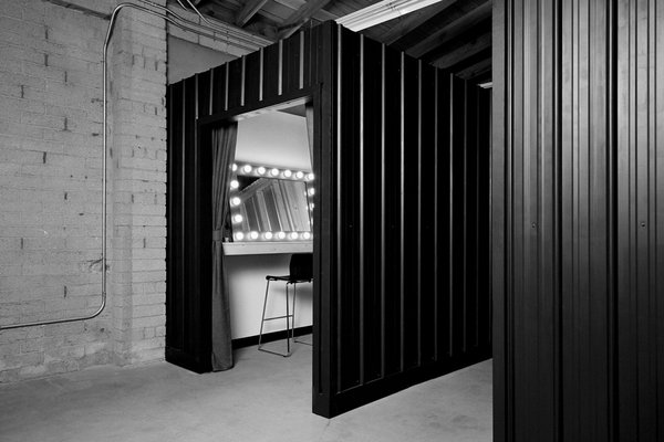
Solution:
[[[440,0],[383,0],[364,9],[344,15],[336,23],[351,31],[362,31],[366,28],[406,15],[422,8],[429,7]]]

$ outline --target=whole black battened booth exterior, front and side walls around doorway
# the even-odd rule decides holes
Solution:
[[[313,410],[332,417],[490,356],[491,98],[334,23],[169,86],[174,364],[209,370],[209,129],[302,97],[317,120]]]

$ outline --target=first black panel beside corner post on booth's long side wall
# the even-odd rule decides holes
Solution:
[[[339,203],[341,238],[339,287],[339,370],[340,389],[360,383],[361,316],[363,287],[360,286],[360,34],[342,31],[341,35],[341,173]]]

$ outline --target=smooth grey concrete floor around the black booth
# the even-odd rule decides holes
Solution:
[[[491,361],[328,420],[310,411],[311,347],[236,358],[218,373],[163,362],[1,386],[0,441],[491,440]]]

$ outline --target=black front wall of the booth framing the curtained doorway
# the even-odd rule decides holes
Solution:
[[[319,96],[325,65],[322,35],[323,28],[308,30],[168,86],[166,359],[170,362],[199,372],[211,369],[210,129],[247,112]],[[321,103],[317,105],[320,115]],[[322,124],[317,128],[319,138]]]

